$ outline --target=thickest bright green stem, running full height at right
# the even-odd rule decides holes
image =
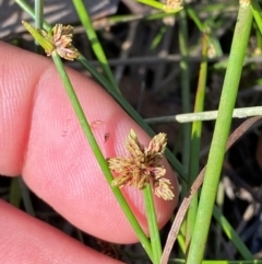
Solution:
[[[187,264],[203,260],[251,22],[251,7],[240,4]]]

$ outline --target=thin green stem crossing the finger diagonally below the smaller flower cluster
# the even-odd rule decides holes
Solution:
[[[52,53],[52,59],[53,59],[53,62],[57,67],[57,70],[59,72],[59,76],[63,82],[63,85],[66,88],[66,91],[70,97],[70,101],[71,101],[71,104],[73,106],[73,110],[79,118],[79,122],[81,124],[81,127],[85,134],[85,137],[87,138],[88,140],[88,144],[96,157],[96,160],[109,184],[109,186],[111,186],[111,181],[114,180],[112,175],[111,175],[111,172],[108,168],[108,164],[107,164],[107,161],[105,160],[100,149],[99,149],[99,146],[97,145],[96,140],[95,140],[95,137],[92,133],[92,129],[90,127],[90,124],[85,117],[85,114],[80,105],[80,102],[79,102],[79,99],[74,92],[74,89],[71,84],[71,81],[67,74],[67,71],[63,67],[63,64],[61,61],[61,58],[58,56],[57,51],[53,51]],[[151,243],[148,241],[148,239],[146,238],[144,231],[142,230],[142,228],[140,227],[138,220],[135,219],[133,213],[131,211],[129,205],[127,204],[124,197],[122,196],[122,193],[119,191],[119,188],[115,188],[115,187],[111,187],[111,191],[115,195],[115,197],[117,198],[119,205],[121,206],[124,215],[127,216],[130,225],[132,226],[134,232],[136,233],[136,236],[139,237],[139,240],[140,242],[142,243],[142,245],[144,246],[146,253],[148,254],[148,256],[152,259],[152,246],[151,246]],[[153,260],[153,259],[152,259]]]

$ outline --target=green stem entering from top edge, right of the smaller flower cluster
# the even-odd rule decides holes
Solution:
[[[107,77],[107,79],[109,80],[109,82],[111,83],[111,85],[116,89],[116,91],[118,91],[120,93],[120,90],[116,83],[116,80],[112,76],[111,69],[108,65],[106,55],[104,53],[104,49],[99,43],[99,39],[96,35],[96,32],[93,27],[90,14],[87,12],[87,10],[85,9],[85,5],[83,3],[82,0],[72,0],[74,8],[79,14],[79,18],[85,28],[86,35],[91,42],[93,51],[95,53],[98,61],[100,62],[100,66]]]

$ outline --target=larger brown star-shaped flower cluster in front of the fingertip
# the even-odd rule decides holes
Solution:
[[[131,129],[126,140],[127,157],[116,157],[108,160],[109,168],[118,176],[112,181],[112,186],[134,186],[143,190],[152,183],[156,196],[163,199],[172,199],[172,186],[165,179],[166,169],[159,164],[166,149],[166,134],[156,135],[148,147],[140,144],[138,136]]]

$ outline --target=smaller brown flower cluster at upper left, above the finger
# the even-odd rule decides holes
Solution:
[[[56,24],[52,27],[52,34],[49,36],[45,31],[40,31],[41,35],[53,43],[56,50],[60,57],[74,60],[79,57],[79,51],[72,46],[73,27],[71,25],[63,26]],[[46,50],[47,56],[50,56],[53,50]]]

